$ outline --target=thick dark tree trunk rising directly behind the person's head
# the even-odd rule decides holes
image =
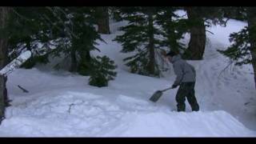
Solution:
[[[206,26],[197,9],[194,7],[186,8],[190,22],[190,42],[184,53],[184,58],[190,60],[202,60],[206,47]]]

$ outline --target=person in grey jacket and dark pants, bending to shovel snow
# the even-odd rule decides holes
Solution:
[[[194,85],[196,81],[196,72],[194,67],[182,59],[181,55],[170,50],[168,54],[163,54],[164,57],[173,64],[174,73],[177,75],[174,84],[171,88],[178,88],[176,94],[177,110],[186,110],[186,98],[190,103],[192,111],[198,111],[199,105],[194,95]]]

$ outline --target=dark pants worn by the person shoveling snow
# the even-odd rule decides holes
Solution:
[[[199,105],[197,99],[194,96],[194,84],[195,82],[182,82],[178,88],[178,92],[176,94],[177,101],[177,110],[185,111],[186,110],[186,98],[190,103],[192,111],[198,111]]]

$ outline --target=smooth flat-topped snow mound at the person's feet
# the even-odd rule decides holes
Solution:
[[[121,137],[255,137],[225,111],[213,112],[158,112],[130,114],[122,126],[107,136]]]

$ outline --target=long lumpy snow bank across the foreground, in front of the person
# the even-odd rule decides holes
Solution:
[[[178,113],[154,103],[86,92],[48,93],[14,103],[1,136],[18,137],[254,137],[225,111]]]

